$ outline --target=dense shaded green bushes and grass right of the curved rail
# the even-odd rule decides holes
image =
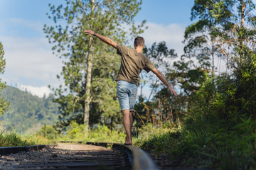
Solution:
[[[181,128],[143,135],[136,145],[186,168],[253,169],[255,120],[248,111],[254,106],[246,104],[255,100],[244,102],[245,108],[252,108],[240,110],[237,88],[228,74],[206,77],[181,117]]]

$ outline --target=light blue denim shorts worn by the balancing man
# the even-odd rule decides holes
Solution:
[[[123,80],[117,81],[117,97],[121,111],[125,109],[133,111],[137,97],[137,85]]]

